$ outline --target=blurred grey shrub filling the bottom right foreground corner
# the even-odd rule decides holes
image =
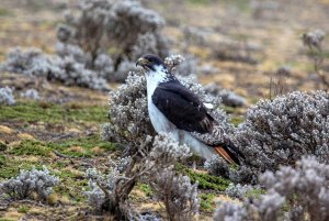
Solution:
[[[326,221],[329,219],[329,165],[314,157],[297,162],[296,168],[281,167],[261,178],[268,194],[245,198],[242,205],[222,202],[215,221]]]

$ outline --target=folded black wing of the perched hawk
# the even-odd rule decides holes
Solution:
[[[198,97],[179,82],[162,82],[154,95],[152,102],[178,129],[208,133],[214,119]]]

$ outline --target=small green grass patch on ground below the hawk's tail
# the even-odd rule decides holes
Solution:
[[[197,188],[200,189],[224,191],[230,184],[228,179],[225,179],[223,177],[193,172],[192,169],[183,165],[175,165],[175,169],[179,173],[189,176],[193,184],[197,183]]]

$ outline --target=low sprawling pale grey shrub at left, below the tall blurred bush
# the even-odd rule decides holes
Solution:
[[[39,49],[30,48],[23,52],[15,48],[7,56],[2,69],[31,76],[45,77],[48,80],[59,81],[68,86],[80,86],[98,90],[107,90],[105,79],[84,65],[77,63],[72,57],[48,56]]]

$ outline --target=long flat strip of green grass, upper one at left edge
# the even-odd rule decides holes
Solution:
[[[106,107],[77,103],[18,102],[14,106],[0,106],[0,120],[18,120],[29,123],[101,123],[106,121]]]

